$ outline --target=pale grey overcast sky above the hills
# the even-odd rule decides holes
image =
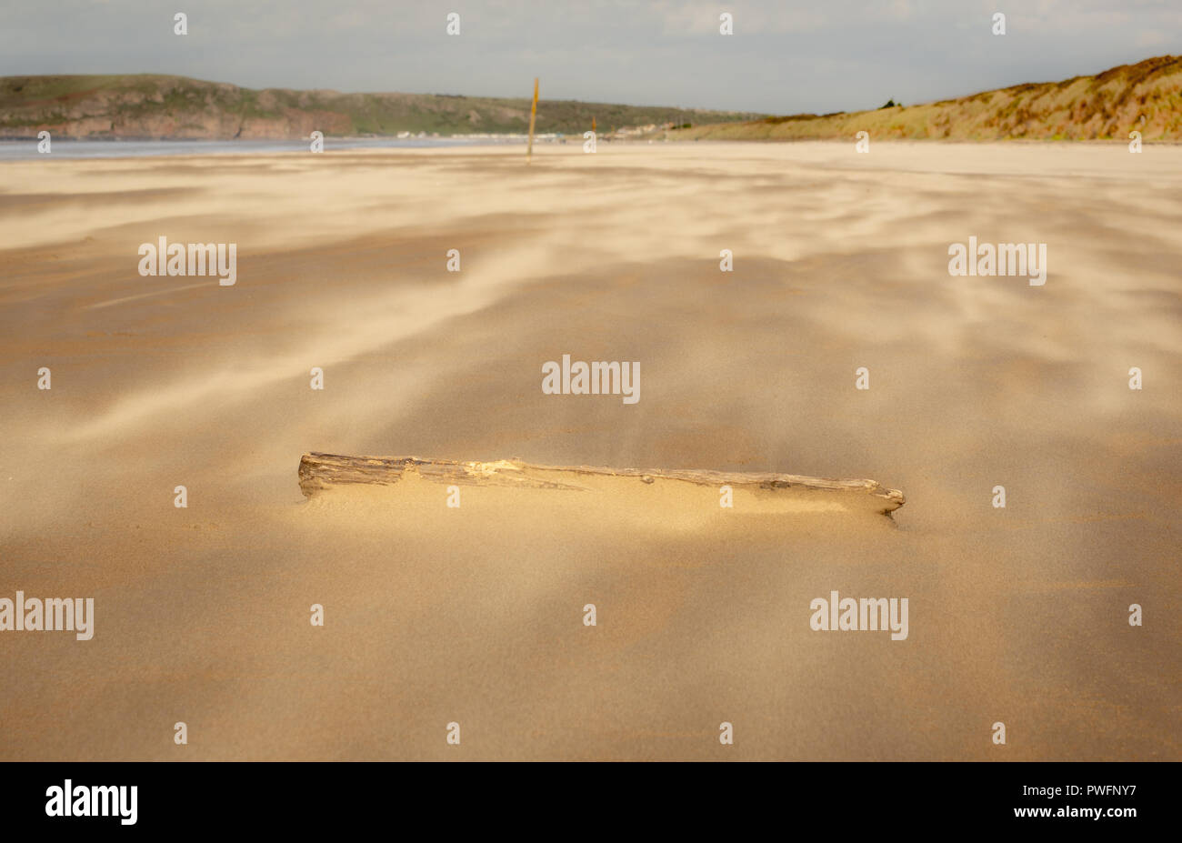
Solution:
[[[1005,35],[992,15],[1006,13]],[[173,34],[188,14],[189,34]],[[447,13],[461,34],[446,33]],[[734,35],[719,34],[719,14]],[[176,73],[794,114],[930,102],[1182,53],[1182,0],[22,0],[0,76]]]

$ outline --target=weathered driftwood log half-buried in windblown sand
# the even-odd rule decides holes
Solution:
[[[877,500],[878,512],[889,513],[904,502],[903,493],[884,488],[873,480],[830,480],[798,474],[748,472],[713,472],[696,468],[647,469],[596,468],[591,466],[535,466],[520,460],[495,462],[460,462],[430,460],[418,456],[342,456],[339,454],[304,454],[299,461],[299,487],[311,498],[322,489],[348,484],[378,484],[392,486],[407,473],[424,480],[456,486],[509,486],[517,488],[551,488],[585,491],[580,478],[636,478],[641,482],[681,480],[697,486],[730,486],[764,491],[839,492],[868,494]]]

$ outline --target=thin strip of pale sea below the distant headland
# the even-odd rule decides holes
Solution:
[[[25,158],[138,158],[151,155],[260,155],[307,153],[307,141],[51,141],[50,153],[38,153],[35,140],[0,141],[0,161]],[[488,137],[352,137],[324,138],[325,151],[335,149],[407,149],[414,147],[473,147],[525,143],[512,135]]]

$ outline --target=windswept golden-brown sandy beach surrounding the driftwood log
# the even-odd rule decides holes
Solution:
[[[1182,758],[1182,148],[520,151],[0,167],[0,597],[96,602],[91,641],[0,635],[0,758]],[[139,277],[162,235],[238,283]],[[949,277],[970,235],[1047,244],[1046,285]],[[563,354],[639,402],[544,395]],[[309,450],[907,505],[305,501]],[[908,638],[813,631],[832,590]]]

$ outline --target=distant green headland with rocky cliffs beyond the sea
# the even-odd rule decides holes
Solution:
[[[522,87],[527,89],[526,84]],[[760,115],[573,100],[538,103],[539,132],[582,134],[625,125],[723,123]],[[435,93],[251,90],[180,76],[0,77],[0,137],[296,138],[524,132],[530,99]]]

